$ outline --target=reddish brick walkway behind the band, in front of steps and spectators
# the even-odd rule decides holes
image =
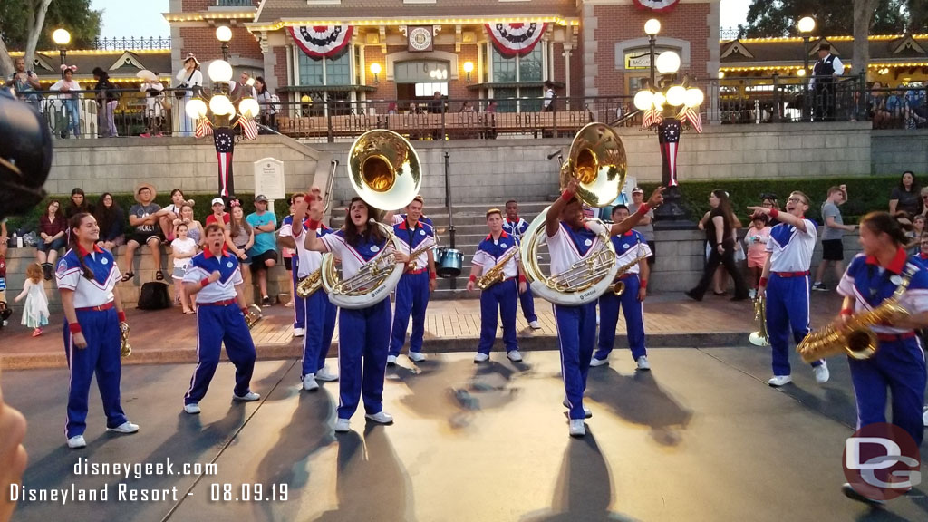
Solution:
[[[834,293],[813,293],[813,328],[830,321],[841,306]],[[252,330],[258,359],[299,359],[303,341],[292,336],[292,308],[264,308],[264,320]],[[535,300],[540,330],[529,328],[519,310],[516,329],[522,350],[555,349],[557,332],[550,305]],[[129,343],[133,355],[125,364],[163,364],[195,362],[197,348],[196,316],[187,316],[179,308],[158,311],[129,309],[126,317],[132,331]],[[61,318],[45,329],[45,335],[32,337],[32,330],[20,326],[18,318],[0,331],[0,369],[64,367]],[[654,294],[645,303],[645,331],[651,347],[660,346],[739,346],[747,343],[747,334],[756,330],[751,302],[733,303],[728,298],[707,295],[701,303],[683,294]],[[620,317],[616,346],[625,344],[625,321]],[[480,301],[460,299],[432,301],[426,316],[426,353],[470,351],[480,336]],[[497,335],[501,337],[501,334]],[[332,341],[338,344],[338,329]],[[496,344],[502,349],[502,342]]]

